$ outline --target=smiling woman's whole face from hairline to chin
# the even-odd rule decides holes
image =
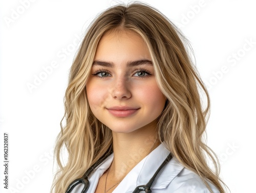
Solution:
[[[164,109],[150,52],[133,32],[101,38],[86,88],[93,114],[114,132],[155,128]]]

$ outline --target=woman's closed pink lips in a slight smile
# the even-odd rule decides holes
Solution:
[[[140,108],[133,108],[131,106],[113,106],[106,109],[115,117],[129,117],[135,114]]]

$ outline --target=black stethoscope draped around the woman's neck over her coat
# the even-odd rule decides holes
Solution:
[[[78,178],[76,180],[74,180],[68,187],[66,193],[71,193],[72,190],[79,184],[83,184],[83,189],[81,191],[81,193],[86,193],[88,188],[89,188],[89,176],[92,174],[92,172],[95,170],[95,168],[97,168],[97,166],[99,166],[101,164],[101,162],[108,157],[109,154],[101,157],[96,163],[94,163],[87,171],[86,173],[84,173],[84,175],[82,176],[82,178]],[[169,154],[166,159],[163,161],[163,163],[159,166],[159,168],[156,170],[155,174],[153,175],[153,177],[150,179],[150,181],[148,181],[145,185],[140,185],[137,186],[135,188],[135,190],[133,191],[133,193],[139,193],[139,192],[145,192],[145,193],[151,193],[151,186],[153,184],[153,182],[155,181],[155,179],[157,178],[157,176],[161,173],[161,170],[164,168],[164,166],[173,158],[172,154]]]

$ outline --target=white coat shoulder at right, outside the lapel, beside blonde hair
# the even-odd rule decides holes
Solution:
[[[206,180],[207,181],[207,180]],[[220,191],[209,181],[207,181],[212,192],[220,193]],[[204,184],[200,176],[193,171],[183,168],[180,173],[170,182],[169,187],[172,187],[174,193],[210,193],[210,190]]]

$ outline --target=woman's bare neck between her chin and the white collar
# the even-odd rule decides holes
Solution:
[[[123,179],[159,144],[155,126],[139,128],[131,133],[113,132],[114,160],[110,171],[111,176],[116,180]]]

